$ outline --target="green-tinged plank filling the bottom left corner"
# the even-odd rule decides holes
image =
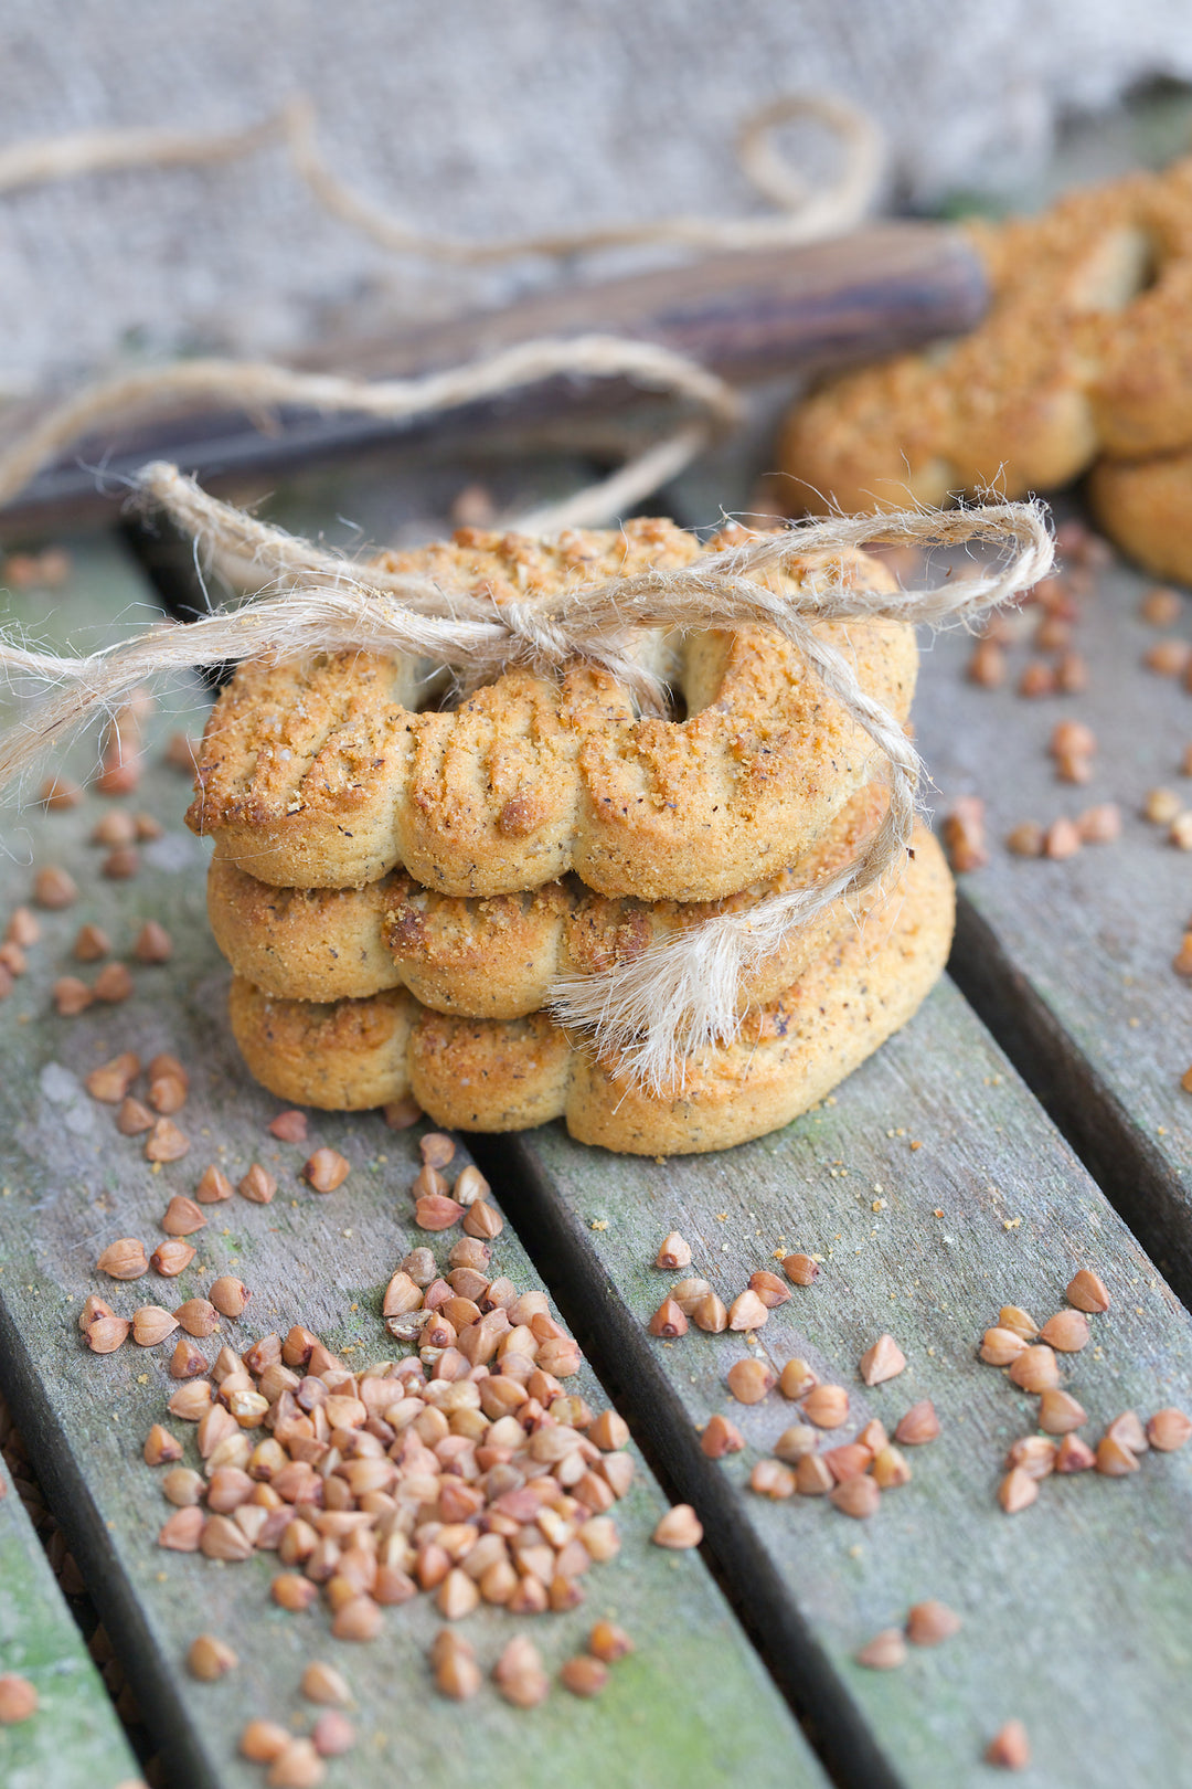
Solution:
[[[0,1463],[0,1675],[27,1678],[38,1710],[0,1725],[5,1789],[118,1789],[141,1769]]]

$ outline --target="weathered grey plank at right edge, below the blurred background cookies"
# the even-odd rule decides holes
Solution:
[[[1081,696],[1024,699],[1017,682],[1031,649],[1008,651],[999,689],[965,680],[972,642],[942,635],[915,705],[919,742],[938,785],[936,812],[956,796],[986,807],[990,862],[961,878],[953,971],[1081,1150],[1101,1184],[1185,1301],[1192,1299],[1192,1063],[1188,982],[1172,957],[1192,916],[1188,857],[1142,818],[1149,789],[1192,805],[1181,776],[1192,707],[1176,678],[1142,669],[1165,637],[1138,603],[1151,580],[1113,565],[1087,598],[1074,648],[1088,662]],[[1187,605],[1165,630],[1187,637]],[[1058,721],[1092,728],[1092,780],[1056,778],[1047,742]],[[1006,834],[1049,825],[1095,801],[1117,801],[1122,837],[1062,862],[1022,859]]]

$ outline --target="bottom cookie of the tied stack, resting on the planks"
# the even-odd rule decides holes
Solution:
[[[434,1123],[522,1131],[567,1118],[572,1136],[625,1154],[699,1154],[763,1136],[824,1098],[920,1005],[953,936],[953,880],[922,827],[902,884],[851,921],[740,1038],[693,1057],[659,1098],[547,1014],[466,1020],[404,989],[306,1005],[234,980],[231,1020],[252,1075],[284,1100],[365,1109],[413,1093]]]

